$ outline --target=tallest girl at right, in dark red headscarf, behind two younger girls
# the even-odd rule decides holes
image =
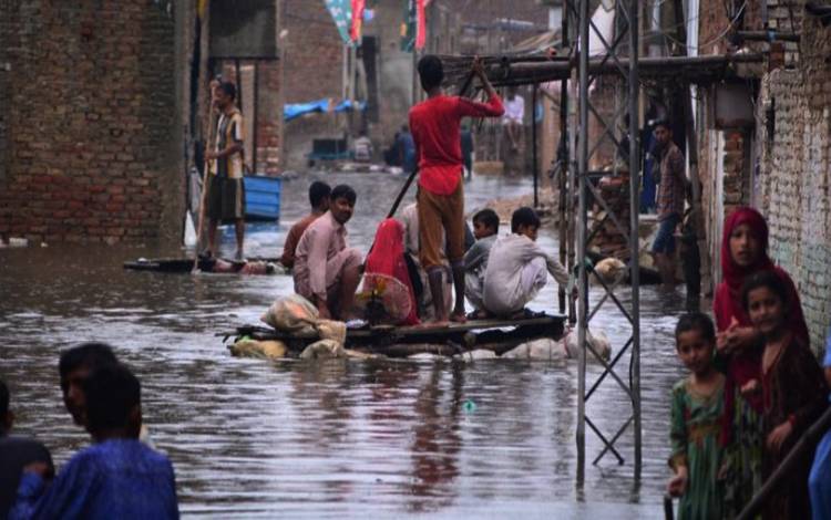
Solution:
[[[725,416],[721,430],[727,446],[726,511],[737,516],[762,483],[763,399],[761,393],[761,333],[750,324],[741,302],[741,285],[750,275],[773,271],[788,289],[788,327],[808,346],[808,326],[797,288],[784,270],[768,257],[768,225],[759,211],[738,208],[725,222],[721,239],[721,278],[712,311],[717,347],[726,361]]]

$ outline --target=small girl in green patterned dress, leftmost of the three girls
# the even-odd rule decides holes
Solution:
[[[675,327],[675,341],[678,357],[691,374],[673,387],[669,466],[675,476],[667,490],[680,497],[680,520],[719,519],[725,376],[712,364],[712,321],[700,312],[685,314]]]

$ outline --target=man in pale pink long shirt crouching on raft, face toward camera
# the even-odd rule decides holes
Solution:
[[[347,185],[331,190],[329,210],[300,237],[295,257],[295,292],[317,306],[320,318],[345,321],[360,282],[361,253],[347,248],[345,225],[357,195]]]

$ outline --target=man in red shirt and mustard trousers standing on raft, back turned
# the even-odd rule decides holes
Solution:
[[[502,101],[482,67],[473,61],[473,73],[479,76],[488,94],[488,103],[476,103],[442,93],[444,70],[441,60],[428,54],[419,60],[419,79],[427,92],[427,101],[410,108],[410,131],[416,142],[419,162],[419,240],[421,264],[428,273],[432,294],[442,293],[440,251],[442,229],[447,233],[448,259],[453,270],[455,305],[448,316],[441,298],[433,299],[435,320],[450,318],[464,322],[464,195],[462,191],[462,117],[499,117],[504,113]]]

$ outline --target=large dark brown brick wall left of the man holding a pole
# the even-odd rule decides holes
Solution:
[[[184,176],[173,17],[152,2],[6,4],[0,235],[177,240],[171,206],[182,204]]]

